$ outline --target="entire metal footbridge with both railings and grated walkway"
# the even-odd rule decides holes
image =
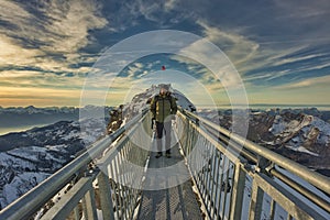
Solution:
[[[151,120],[142,111],[0,219],[330,219],[328,177],[183,109],[172,157],[156,158]]]

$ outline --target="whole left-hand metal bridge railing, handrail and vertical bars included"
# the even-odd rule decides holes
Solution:
[[[102,219],[131,219],[140,189],[129,187],[129,182],[139,185],[142,178],[123,170],[123,163],[144,166],[148,151],[136,146],[134,141],[142,136],[141,132],[151,135],[150,124],[151,117],[144,110],[1,210],[0,219],[80,220],[100,216]],[[62,194],[61,199],[54,204],[53,198],[58,194]]]

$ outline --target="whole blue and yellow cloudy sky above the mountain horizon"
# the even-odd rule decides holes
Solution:
[[[0,106],[78,107],[81,96],[116,106],[158,82],[196,105],[230,105],[238,81],[250,105],[330,105],[329,21],[328,0],[0,0]],[[189,57],[165,53],[183,41],[165,37],[164,50],[133,62],[107,56],[136,34],[161,30],[200,40],[186,45],[195,50]],[[195,59],[202,56],[223,68],[215,73]]]

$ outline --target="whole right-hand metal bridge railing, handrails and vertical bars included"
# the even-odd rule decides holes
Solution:
[[[180,110],[179,141],[209,219],[330,219],[330,180]],[[193,153],[197,151],[197,153]]]

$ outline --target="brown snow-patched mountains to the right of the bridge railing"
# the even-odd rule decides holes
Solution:
[[[246,138],[329,175],[330,123],[324,113],[315,108],[249,110]],[[200,110],[198,114],[231,129],[232,110]]]

